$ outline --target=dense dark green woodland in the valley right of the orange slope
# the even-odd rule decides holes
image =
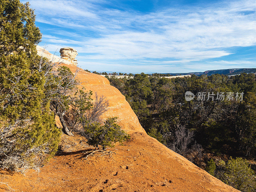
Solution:
[[[218,163],[218,159],[233,162],[230,159],[232,157],[255,159],[256,78],[254,74],[243,73],[231,77],[218,74],[192,75],[167,79],[159,76],[148,77],[141,73],[136,74],[133,79],[117,79],[114,76],[108,79],[111,85],[125,95],[140,124],[151,137],[198,166],[205,169],[211,157],[214,158],[214,161],[212,160],[214,164]],[[194,94],[244,92],[244,98],[237,101],[217,100],[215,95],[215,98],[207,100],[206,95],[205,100],[195,98],[186,101],[186,91]],[[251,168],[255,170],[253,165]],[[212,171],[209,172],[213,174]],[[231,185],[228,174],[223,173],[219,178]],[[254,174],[252,171],[252,175]],[[215,173],[213,175],[217,177]],[[252,178],[254,179],[251,180],[251,184],[255,182],[255,175]],[[235,184],[232,186],[239,188]],[[255,188],[241,190],[250,191]]]

